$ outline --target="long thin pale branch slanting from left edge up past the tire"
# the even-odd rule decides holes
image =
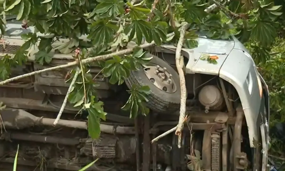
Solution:
[[[167,38],[173,36],[175,33],[172,32],[170,34],[167,35]],[[155,45],[155,42],[152,41],[151,43],[146,43],[146,44],[142,44],[141,48],[147,48],[149,46],[153,46]],[[82,64],[88,64],[88,63],[91,63],[91,62],[95,62],[95,61],[99,61],[99,60],[107,60],[109,58],[112,58],[113,56],[115,55],[124,55],[124,54],[129,54],[131,52],[133,52],[133,48],[135,48],[137,46],[133,46],[131,48],[128,48],[128,49],[125,49],[125,50],[120,50],[119,52],[113,52],[113,53],[110,53],[110,54],[106,54],[106,55],[100,55],[100,56],[95,56],[95,57],[92,57],[92,58],[86,58],[86,59],[83,59],[81,61]],[[55,66],[55,67],[51,67],[51,68],[46,68],[46,69],[42,69],[42,70],[38,70],[38,71],[34,71],[34,72],[30,72],[28,74],[23,74],[23,75],[20,75],[20,76],[16,76],[16,77],[13,77],[13,78],[9,78],[7,80],[4,80],[4,81],[1,81],[0,82],[0,86],[4,85],[4,84],[7,84],[9,82],[12,82],[12,81],[15,81],[15,80],[19,80],[21,78],[25,78],[25,77],[29,77],[29,76],[33,76],[35,74],[40,74],[40,73],[43,73],[43,72],[48,72],[48,71],[52,71],[52,70],[58,70],[58,69],[61,69],[61,68],[67,68],[67,67],[71,67],[71,66],[75,66],[77,65],[78,62],[77,61],[74,61],[74,62],[69,62],[67,64],[64,64],[64,65],[60,65],[60,66]]]

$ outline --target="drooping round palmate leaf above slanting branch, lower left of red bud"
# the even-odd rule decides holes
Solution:
[[[116,25],[107,21],[96,21],[90,27],[88,39],[92,40],[95,46],[106,46],[114,40],[114,34],[119,29]]]

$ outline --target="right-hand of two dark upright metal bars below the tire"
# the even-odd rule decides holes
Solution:
[[[150,164],[150,115],[144,117],[144,135],[143,135],[143,168],[142,171],[149,171]]]

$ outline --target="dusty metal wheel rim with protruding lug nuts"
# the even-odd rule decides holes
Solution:
[[[172,74],[165,67],[157,64],[155,66],[144,66],[144,73],[158,89],[166,93],[174,93],[177,90]]]

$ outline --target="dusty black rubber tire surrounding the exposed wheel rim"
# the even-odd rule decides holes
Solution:
[[[164,60],[154,56],[150,53],[147,55],[152,56],[152,60],[150,63],[154,63],[161,67],[165,67],[166,70],[172,74],[172,78],[176,84],[176,91],[173,93],[168,93],[162,91],[154,84],[150,82],[147,78],[146,74],[144,73],[144,68],[141,67],[140,70],[131,71],[129,78],[126,79],[126,84],[129,88],[133,84],[138,84],[140,86],[149,86],[150,87],[150,94],[148,95],[148,103],[147,106],[157,113],[169,113],[173,111],[177,111],[180,107],[180,80],[178,73]]]

